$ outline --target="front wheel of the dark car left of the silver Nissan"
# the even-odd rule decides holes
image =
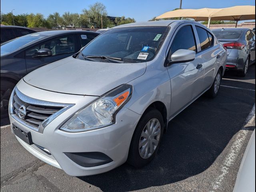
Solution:
[[[1,80],[1,119],[8,117],[8,103],[15,84],[7,80]]]

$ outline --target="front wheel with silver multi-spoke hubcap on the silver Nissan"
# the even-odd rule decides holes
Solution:
[[[153,134],[151,137],[148,136],[148,130],[151,130],[150,128],[148,129],[148,123],[153,124],[153,128],[156,128],[156,130],[153,131],[155,134],[157,134],[156,136],[153,136]],[[160,124],[160,126],[157,126],[157,124]],[[138,125],[136,126],[132,136],[127,159],[128,164],[136,168],[140,168],[151,162],[158,151],[163,135],[163,130],[164,120],[162,114],[155,108],[148,109],[138,122]],[[148,138],[144,136],[148,136]],[[140,144],[141,147],[139,148]]]

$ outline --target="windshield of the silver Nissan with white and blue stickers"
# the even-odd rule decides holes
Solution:
[[[93,61],[101,62],[106,62],[106,57],[119,59],[125,63],[146,62],[156,56],[169,28],[168,26],[113,28],[92,40],[82,50],[82,56],[88,58],[95,56]]]

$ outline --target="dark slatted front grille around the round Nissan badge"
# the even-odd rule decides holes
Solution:
[[[22,109],[24,109],[24,107],[26,108],[26,113],[24,116],[22,116],[21,119],[26,123],[34,126],[35,128],[38,128],[44,120],[46,120],[52,114],[58,112],[63,108],[60,106],[42,106],[42,105],[36,105],[36,104],[29,104],[22,101],[18,97],[16,92],[14,92],[13,109],[14,109],[14,114],[18,118],[20,118],[18,110],[21,106],[22,106]]]

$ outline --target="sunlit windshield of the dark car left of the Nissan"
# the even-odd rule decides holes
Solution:
[[[1,44],[1,56],[8,53],[12,53],[18,50],[19,48],[21,48],[22,46],[25,46],[26,44],[42,39],[44,37],[46,37],[46,35],[28,34],[28,35],[10,40],[8,42],[5,42]]]

